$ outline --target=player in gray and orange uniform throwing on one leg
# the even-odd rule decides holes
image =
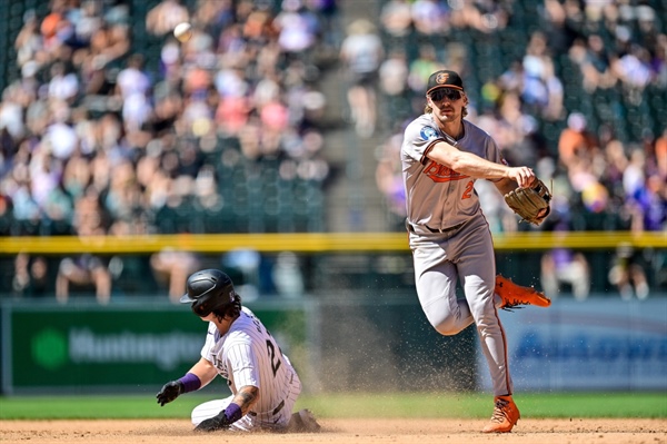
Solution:
[[[490,180],[509,194],[530,188],[537,178],[528,167],[508,167],[494,139],[464,119],[468,98],[457,72],[434,72],[426,100],[425,114],[408,125],[401,147],[417,294],[440,334],[455,335],[477,325],[495,395],[494,414],[484,432],[510,432],[519,410],[511,397],[507,343],[497,308],[547,307],[550,300],[534,288],[496,277],[491,233],[475,180]],[[547,214],[548,206],[539,221]],[[457,279],[465,300],[457,300]]]

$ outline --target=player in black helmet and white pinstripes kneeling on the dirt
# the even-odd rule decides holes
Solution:
[[[229,276],[218,269],[192,274],[180,302],[191,304],[192,312],[209,323],[208,333],[199,362],[180,379],[165,384],[158,404],[163,406],[220,375],[232,395],[195,407],[196,431],[319,430],[308,410],[292,415],[301,381],[263,324],[241,306]]]

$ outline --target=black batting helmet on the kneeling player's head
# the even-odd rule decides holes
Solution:
[[[192,304],[197,316],[206,317],[215,309],[235,302],[236,292],[231,278],[219,269],[203,269],[188,278],[187,292],[180,302]]]

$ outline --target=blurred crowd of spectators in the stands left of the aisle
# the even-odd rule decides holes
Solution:
[[[301,201],[288,206],[299,196],[317,204],[329,175],[318,63],[335,46],[336,1],[161,0],[140,22],[135,3],[24,11],[12,42],[20,75],[0,102],[0,236],[321,228],[319,207],[301,226],[263,217],[298,214]],[[193,27],[183,43],[179,22]],[[175,276],[172,294],[199,265],[175,255],[151,259]],[[17,258],[16,293],[36,262]],[[63,259],[58,299],[89,284],[108,300],[111,265]]]

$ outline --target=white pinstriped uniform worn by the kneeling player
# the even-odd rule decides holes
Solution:
[[[213,323],[209,323],[201,356],[227,379],[232,395],[195,407],[192,424],[216,416],[229,405],[239,388],[251,385],[259,388],[259,399],[252,411],[231,425],[231,430],[287,427],[301,393],[301,381],[276,339],[250,309],[242,307],[240,316],[223,336]]]

